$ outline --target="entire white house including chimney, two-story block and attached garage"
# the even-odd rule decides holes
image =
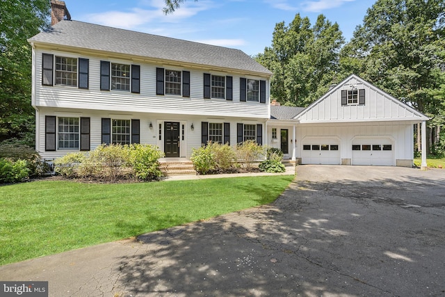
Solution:
[[[76,22],[63,1],[51,7],[51,29],[29,39],[44,159],[102,143],[189,159],[207,141],[254,140],[298,163],[412,166],[413,125],[428,118],[355,75],[306,109],[271,106],[272,72],[240,50]]]

